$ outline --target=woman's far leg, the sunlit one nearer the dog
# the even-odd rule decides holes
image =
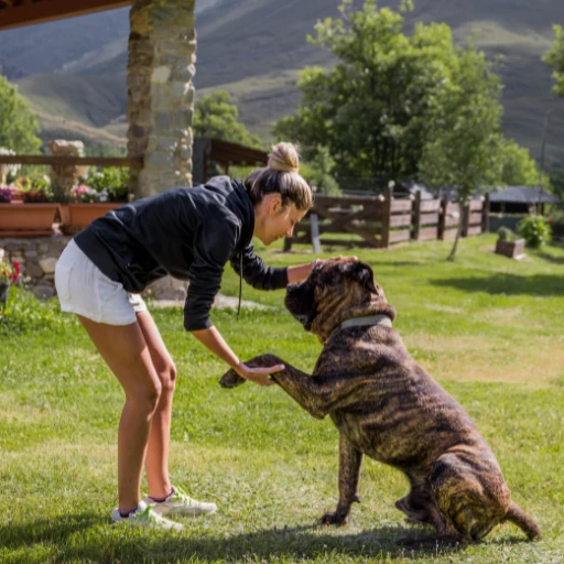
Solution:
[[[156,376],[161,381],[161,395],[153,414],[145,457],[149,496],[159,499],[164,498],[171,492],[169,444],[176,367],[169,350],[166,350],[166,346],[151,314],[149,312],[139,312],[137,319],[149,347]]]

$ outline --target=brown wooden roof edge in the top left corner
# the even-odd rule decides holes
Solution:
[[[19,6],[12,3],[10,8],[0,9],[0,30],[113,10],[130,4],[131,0],[36,0]]]

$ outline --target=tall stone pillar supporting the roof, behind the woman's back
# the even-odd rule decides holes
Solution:
[[[128,154],[137,198],[192,185],[195,0],[133,0],[128,64]]]

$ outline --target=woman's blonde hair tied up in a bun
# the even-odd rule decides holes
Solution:
[[[291,203],[297,209],[307,210],[313,206],[312,188],[300,176],[300,155],[292,143],[278,143],[269,154],[269,164],[252,171],[245,180],[252,204],[262,202],[267,194],[280,194],[282,205]]]

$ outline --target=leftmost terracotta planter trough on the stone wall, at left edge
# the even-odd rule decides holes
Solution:
[[[56,204],[0,204],[0,237],[50,237]]]

